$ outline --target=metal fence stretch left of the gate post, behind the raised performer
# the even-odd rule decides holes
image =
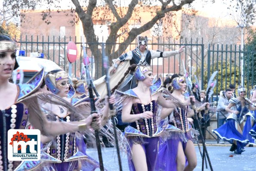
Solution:
[[[75,67],[73,73],[77,76],[81,72],[81,52],[82,52],[82,39],[81,37],[44,37],[44,36],[21,36],[19,39],[16,37],[16,40],[19,42],[19,48],[21,50],[25,50],[25,56],[30,56],[30,52],[41,52],[44,53],[44,58],[52,60],[56,62],[63,70],[68,70],[68,60],[66,55],[66,49],[69,41],[74,41],[78,47],[78,58],[74,63]],[[199,43],[200,42],[200,43]],[[180,55],[176,55],[170,58],[157,58],[152,60],[151,64],[153,67],[153,71],[157,76],[165,77],[168,73],[183,73],[182,68],[182,60],[185,61],[185,65],[187,66],[187,70],[195,71],[196,75],[199,76],[202,73],[198,73],[198,70],[201,70],[202,56],[204,56],[204,44],[203,40],[185,40],[182,43],[179,41],[171,41],[168,38],[159,38],[152,37],[149,38],[148,41],[148,49],[152,50],[160,50],[160,51],[173,51],[179,49],[180,46],[185,45],[185,53]],[[99,47],[99,54],[101,52],[101,44],[96,43]],[[120,43],[113,43],[118,47]],[[88,48],[88,43],[86,45],[86,53],[89,56],[93,56],[91,50]],[[121,49],[119,51],[119,55],[123,54],[123,52],[127,52],[129,50],[135,49],[137,46],[137,42],[133,41],[129,43],[127,49]],[[100,56],[96,56],[100,58]],[[96,58],[93,56],[93,58]],[[118,58],[118,56],[113,56],[114,58]],[[93,61],[93,60],[92,60]],[[93,67],[93,66],[92,66]],[[92,72],[98,73],[98,70],[102,70],[102,68],[92,68]],[[103,72],[102,72],[103,73]],[[94,78],[97,79],[102,75],[95,75]]]

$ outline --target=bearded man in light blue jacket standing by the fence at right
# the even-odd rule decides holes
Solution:
[[[230,114],[226,111],[226,107],[228,106],[229,99],[231,99],[233,97],[232,95],[233,95],[233,93],[232,93],[231,89],[226,89],[226,91],[219,92],[219,102],[218,102],[218,106],[217,106],[217,110],[220,111],[218,127],[220,127],[221,125],[224,124],[225,120],[227,119],[228,115]]]

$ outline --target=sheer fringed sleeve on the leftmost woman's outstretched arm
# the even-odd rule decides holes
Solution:
[[[35,129],[39,129],[41,134],[46,136],[56,136],[58,134],[75,132],[75,130],[77,130],[77,124],[73,124],[72,122],[67,123],[49,121],[46,117],[46,114],[52,117],[55,114],[54,111],[43,108],[46,103],[65,107],[69,113],[71,113],[73,117],[72,121],[80,121],[86,119],[82,113],[77,112],[75,107],[68,103],[68,101],[65,101],[64,99],[52,93],[36,93],[34,95],[28,96],[27,98],[24,98],[21,102],[28,107],[29,122],[31,125]]]

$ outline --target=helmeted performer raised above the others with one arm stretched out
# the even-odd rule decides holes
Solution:
[[[179,50],[175,51],[166,51],[166,52],[160,52],[155,50],[148,50],[148,38],[145,36],[138,36],[137,37],[138,46],[136,49],[131,50],[123,55],[121,55],[119,58],[116,59],[114,62],[114,65],[110,68],[110,88],[112,89],[117,82],[120,81],[120,78],[122,78],[123,73],[126,72],[128,67],[132,64],[145,64],[149,65],[151,64],[151,59],[154,58],[167,58],[172,55],[177,55],[181,52],[183,52],[183,48],[185,46],[181,46]],[[99,92],[100,96],[105,96],[107,93],[105,84],[103,83],[105,79],[105,76],[102,76],[100,79],[97,79],[94,81],[94,85]],[[129,74],[127,75],[127,78],[125,81],[119,85],[118,90],[120,91],[126,91],[129,89],[133,89],[137,86],[136,79],[133,78],[133,75]]]

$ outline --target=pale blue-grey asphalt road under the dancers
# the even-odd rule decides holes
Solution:
[[[245,152],[241,155],[234,154],[229,151],[227,144],[221,146],[209,146],[207,144],[207,151],[210,156],[210,161],[214,171],[256,171],[256,147],[245,147]],[[202,170],[202,159],[197,146],[195,146],[197,152],[197,167],[194,171]],[[201,147],[202,148],[202,147]],[[87,154],[94,159],[98,160],[98,153],[96,149],[87,149]],[[229,155],[234,155],[229,157]],[[118,160],[115,148],[102,149],[104,167],[108,171],[118,171]],[[121,155],[123,171],[129,171],[126,154]],[[204,171],[210,171],[209,164],[208,169],[204,168]],[[97,169],[96,171],[99,171]]]

